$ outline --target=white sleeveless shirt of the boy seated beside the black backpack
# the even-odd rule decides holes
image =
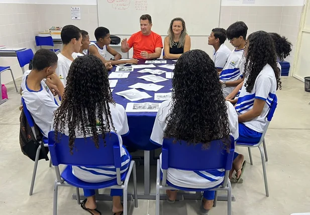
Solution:
[[[47,137],[51,130],[54,111],[58,105],[44,81],[41,81],[41,90],[33,91],[27,86],[27,78],[28,75],[25,75],[25,78],[23,76],[22,86],[25,86],[25,89],[22,87],[22,96],[35,123],[41,129],[42,134]]]

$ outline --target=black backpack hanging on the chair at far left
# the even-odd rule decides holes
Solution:
[[[22,152],[30,159],[35,161],[37,149],[39,145],[41,145],[39,160],[41,159],[49,160],[47,156],[49,152],[48,147],[44,147],[44,143],[42,141],[43,135],[39,127],[35,123],[34,128],[35,128],[35,134],[32,132],[32,129],[28,124],[24,110],[22,110],[20,116],[20,145]]]

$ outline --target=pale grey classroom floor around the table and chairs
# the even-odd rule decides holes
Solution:
[[[282,79],[283,89],[277,92],[278,108],[266,134],[269,162],[267,175],[270,197],[265,196],[258,149],[253,149],[254,165],[248,165],[244,183],[233,185],[233,214],[289,215],[310,212],[310,93],[294,78]],[[18,82],[20,83],[20,81]],[[54,168],[39,162],[34,194],[29,196],[33,161],[24,156],[19,145],[20,95],[13,84],[7,85],[9,100],[0,106],[0,214],[52,214]],[[237,148],[248,159],[246,148]],[[152,166],[151,176],[155,176]],[[143,166],[138,167],[139,190],[143,191]],[[151,192],[155,192],[152,178]],[[71,199],[74,188],[60,187],[58,214],[88,214]],[[200,202],[161,201],[161,214],[197,214]],[[135,208],[129,202],[129,214],[155,214],[155,200],[139,200]],[[149,205],[149,208],[148,208]],[[112,202],[98,202],[102,214],[113,214]],[[227,214],[225,202],[219,202],[209,214]]]

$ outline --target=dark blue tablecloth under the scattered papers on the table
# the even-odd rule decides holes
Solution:
[[[145,60],[139,60],[138,64],[145,64]],[[172,60],[167,60],[167,64],[175,64]],[[160,65],[164,64],[154,64],[156,68],[150,68],[150,69],[160,69],[167,72],[172,72],[172,70],[158,67]],[[111,72],[114,72],[116,67],[114,67]],[[134,72],[131,72],[127,79],[118,79],[118,83],[116,87],[114,88],[112,94],[113,99],[116,103],[123,105],[123,107],[126,109],[127,103],[131,102],[130,100],[124,98],[123,96],[119,96],[115,93],[121,92],[124,90],[129,90],[131,88],[128,88],[128,86],[134,85],[136,83],[145,83],[150,84],[152,82],[145,81],[143,79],[140,79],[138,77],[144,76],[144,75],[151,75],[150,73],[138,73],[137,71],[143,70],[143,69],[135,69]],[[109,75],[110,73],[109,72]],[[166,74],[163,73],[159,75],[163,78],[166,77]],[[138,101],[135,101],[136,103],[143,103],[143,102],[156,102],[161,103],[163,101],[154,101],[154,94],[155,93],[169,93],[171,92],[172,84],[171,79],[168,79],[168,81],[158,82],[155,83],[157,85],[165,86],[162,89],[158,90],[157,92],[154,91],[147,91],[143,89],[138,89],[141,92],[146,92],[152,98],[149,99],[141,99]],[[153,150],[156,148],[159,148],[157,145],[150,142],[150,136],[152,133],[153,125],[155,122],[157,112],[127,112],[127,118],[128,118],[128,125],[129,125],[129,135],[126,137],[123,137],[123,143],[124,145],[128,146],[130,150]]]

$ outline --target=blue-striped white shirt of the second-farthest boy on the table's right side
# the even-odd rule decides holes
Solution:
[[[220,80],[222,82],[237,81],[243,77],[240,67],[244,64],[243,49],[233,50],[229,56],[227,63],[221,72]],[[224,96],[228,96],[235,87],[222,87]]]

